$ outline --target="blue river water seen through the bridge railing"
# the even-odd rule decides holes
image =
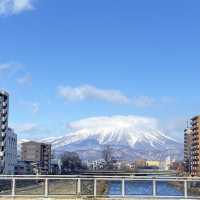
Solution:
[[[121,182],[112,181],[108,184],[108,195],[121,195]],[[125,195],[152,195],[153,183],[152,181],[127,181],[125,182]],[[183,185],[175,187],[171,183],[157,182],[156,187],[157,196],[184,196]]]

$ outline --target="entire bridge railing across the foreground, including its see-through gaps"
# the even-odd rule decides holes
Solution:
[[[0,197],[200,199],[200,177],[0,176]]]

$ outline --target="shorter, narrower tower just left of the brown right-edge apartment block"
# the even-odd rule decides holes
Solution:
[[[192,147],[192,129],[184,130],[184,166],[185,172],[191,173],[191,147]]]

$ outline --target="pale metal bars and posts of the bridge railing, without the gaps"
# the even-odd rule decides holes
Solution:
[[[52,180],[58,181],[58,180],[75,180],[75,186],[76,186],[76,194],[74,196],[79,197],[79,196],[91,196],[91,197],[96,197],[97,196],[97,181],[118,181],[120,182],[121,185],[121,193],[120,195],[108,195],[108,198],[115,198],[115,197],[122,197],[122,198],[128,198],[130,195],[126,193],[126,183],[132,181],[132,182],[151,182],[151,187],[152,187],[152,194],[147,195],[147,197],[155,197],[155,198],[161,198],[161,197],[167,197],[167,198],[185,198],[187,199],[189,197],[188,193],[188,183],[189,182],[198,182],[200,183],[200,177],[168,177],[168,176],[85,176],[85,175],[0,175],[0,181],[5,181],[8,180],[11,182],[11,193],[3,195],[1,193],[1,185],[0,185],[0,197],[1,196],[12,196],[12,197],[18,197],[18,196],[42,196],[42,197],[51,197],[54,195],[51,195],[49,193],[49,182]],[[44,188],[44,191],[42,194],[35,194],[35,195],[19,195],[16,192],[17,189],[17,181],[25,181],[25,180],[38,180],[40,182],[40,186]],[[82,183],[84,181],[91,181],[93,182],[93,192],[92,194],[81,194],[82,191]],[[42,182],[41,182],[42,181]],[[170,183],[181,183],[183,186],[183,191],[181,196],[159,196],[157,192],[157,187],[158,184],[161,182],[170,182]],[[63,183],[66,184],[66,183]],[[24,186],[23,186],[24,187]],[[27,186],[28,187],[28,186]],[[29,186],[29,187],[34,187]],[[26,189],[25,187],[23,188],[24,190]],[[200,192],[200,191],[199,191]],[[59,195],[60,196],[60,195]],[[62,196],[62,195],[61,195]],[[70,196],[69,194],[64,194],[64,196]],[[131,195],[131,198],[138,198],[138,197],[144,197],[145,195]],[[104,195],[105,197],[105,195]],[[195,196],[195,199],[200,199],[200,196]]]

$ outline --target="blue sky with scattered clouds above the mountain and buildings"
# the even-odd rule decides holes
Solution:
[[[0,0],[0,88],[19,138],[154,117],[182,137],[200,113],[198,0]]]

